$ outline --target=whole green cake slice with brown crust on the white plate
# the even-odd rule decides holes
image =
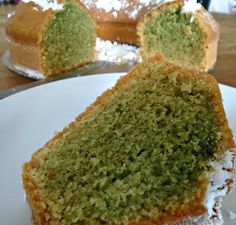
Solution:
[[[234,147],[216,80],[154,57],[36,151],[23,185],[37,225],[210,224]]]

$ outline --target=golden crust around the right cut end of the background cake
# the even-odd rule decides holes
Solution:
[[[176,6],[183,6],[183,0],[175,0],[172,2],[167,2],[158,5],[152,11],[148,12],[144,17],[142,17],[138,24],[137,24],[137,34],[138,34],[138,42],[141,47],[141,55],[143,58],[146,58],[145,54],[145,47],[143,46],[144,37],[142,35],[142,30],[144,23],[149,20],[152,16],[155,16],[160,10],[169,7],[176,7]],[[204,56],[204,67],[203,71],[208,71],[209,69],[213,68],[214,64],[217,60],[217,47],[219,41],[219,34],[220,34],[220,25],[215,21],[213,16],[204,8],[200,7],[199,10],[192,13],[194,19],[199,23],[202,29],[206,33],[206,42],[204,46],[205,56]],[[157,53],[160,54],[160,53]]]

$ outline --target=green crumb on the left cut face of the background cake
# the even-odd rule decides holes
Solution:
[[[49,21],[42,39],[46,74],[68,70],[93,59],[95,24],[80,5],[68,1]]]

